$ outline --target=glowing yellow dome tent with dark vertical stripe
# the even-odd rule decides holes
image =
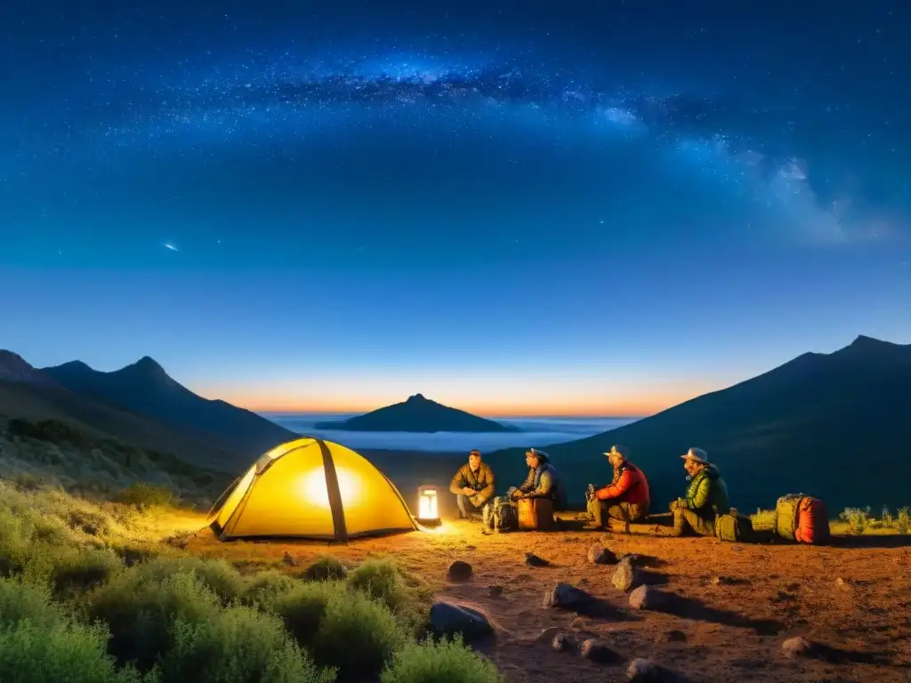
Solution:
[[[419,528],[395,484],[363,455],[310,436],[261,455],[221,495],[209,525],[222,541],[284,536],[342,543]]]

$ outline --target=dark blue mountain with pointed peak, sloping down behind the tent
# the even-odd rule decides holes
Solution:
[[[248,457],[297,436],[278,424],[224,401],[210,401],[172,379],[158,362],[145,356],[114,372],[100,372],[80,361],[42,372],[70,391],[94,396],[191,433],[208,433],[246,451]]]

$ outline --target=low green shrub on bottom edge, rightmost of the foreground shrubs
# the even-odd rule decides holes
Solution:
[[[454,640],[409,643],[385,668],[379,683],[501,683],[493,662]]]

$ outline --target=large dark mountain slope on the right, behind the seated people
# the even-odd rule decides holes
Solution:
[[[911,345],[860,336],[833,353],[804,353],[745,382],[586,439],[548,446],[570,499],[609,481],[601,455],[630,449],[648,474],[653,510],[687,485],[680,455],[708,451],[749,512],[783,494],[822,497],[833,513],[850,507],[911,505]],[[525,472],[524,450],[487,456],[497,478]],[[502,473],[502,474],[501,474]]]

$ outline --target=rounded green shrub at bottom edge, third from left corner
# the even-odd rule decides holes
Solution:
[[[338,668],[340,681],[372,679],[406,642],[386,607],[362,593],[340,591],[329,597],[312,652],[318,664]]]

